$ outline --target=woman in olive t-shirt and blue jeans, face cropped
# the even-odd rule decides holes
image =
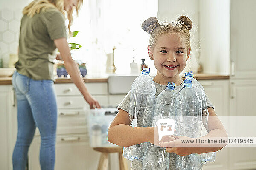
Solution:
[[[23,9],[20,26],[19,61],[12,84],[17,96],[18,134],[13,151],[13,169],[25,170],[27,152],[38,127],[41,134],[42,170],[53,170],[57,105],[54,90],[53,60],[56,47],[64,66],[90,108],[100,108],[80,77],[67,43],[64,11],[70,25],[72,12],[79,11],[82,0],[34,0]]]

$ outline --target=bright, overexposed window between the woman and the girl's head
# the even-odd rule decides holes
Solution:
[[[149,17],[157,17],[158,0],[84,0],[79,17],[74,19],[72,31],[80,31],[69,42],[82,45],[72,50],[75,60],[86,62],[88,75],[100,77],[105,74],[106,54],[114,52],[116,74],[128,74],[132,59],[141,59],[156,72],[154,62],[148,57],[149,35],[141,24]]]

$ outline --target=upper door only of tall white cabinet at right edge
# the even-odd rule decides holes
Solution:
[[[231,78],[256,78],[255,0],[231,0],[230,75]]]

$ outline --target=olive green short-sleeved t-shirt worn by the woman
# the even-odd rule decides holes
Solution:
[[[67,37],[65,17],[58,9],[48,8],[33,17],[23,15],[20,25],[20,74],[35,80],[53,80],[56,46],[54,40]]]

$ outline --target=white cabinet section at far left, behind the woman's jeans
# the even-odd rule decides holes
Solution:
[[[0,169],[12,170],[17,136],[17,104],[12,85],[0,86]]]

